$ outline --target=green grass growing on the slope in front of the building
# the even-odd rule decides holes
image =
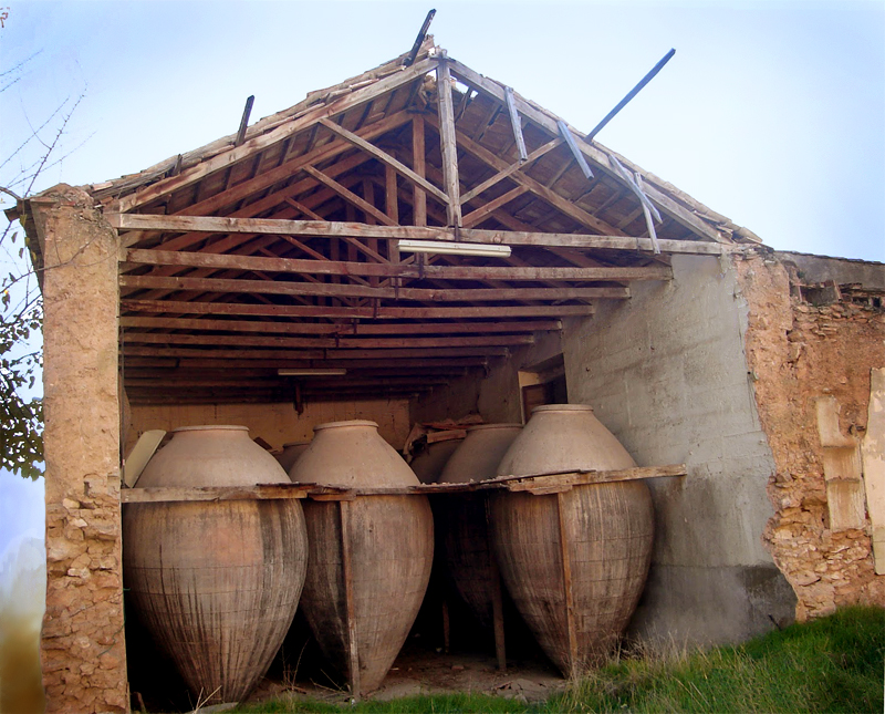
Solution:
[[[354,706],[269,702],[239,712],[445,714],[558,712],[882,712],[885,610],[846,608],[740,646],[624,655],[540,704],[483,694]]]

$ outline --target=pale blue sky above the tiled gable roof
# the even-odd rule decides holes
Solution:
[[[236,132],[249,95],[257,121],[406,52],[431,7],[450,56],[583,132],[675,48],[597,141],[775,249],[885,262],[885,0],[4,0],[0,73],[27,62],[0,162],[82,97],[32,190],[138,172]],[[0,473],[0,551],[41,489]]]

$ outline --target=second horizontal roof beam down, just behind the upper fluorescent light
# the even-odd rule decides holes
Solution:
[[[465,216],[465,220],[472,215]],[[335,260],[300,260],[258,256],[218,255],[175,250],[126,250],[123,268],[129,265],[188,266],[293,275],[362,276],[384,278],[437,278],[439,280],[670,280],[669,266],[641,268],[533,268],[501,266],[416,266]]]

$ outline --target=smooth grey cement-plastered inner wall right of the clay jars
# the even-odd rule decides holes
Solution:
[[[652,479],[656,545],[631,624],[642,639],[730,642],[792,620],[795,597],[762,545],[774,462],[743,350],[747,306],[729,258],[674,256],[674,280],[634,283],[563,335],[569,401],[591,404]]]

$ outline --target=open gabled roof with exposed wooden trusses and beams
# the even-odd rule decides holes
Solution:
[[[671,253],[758,242],[431,38],[86,188],[144,404],[413,396],[669,280]]]

